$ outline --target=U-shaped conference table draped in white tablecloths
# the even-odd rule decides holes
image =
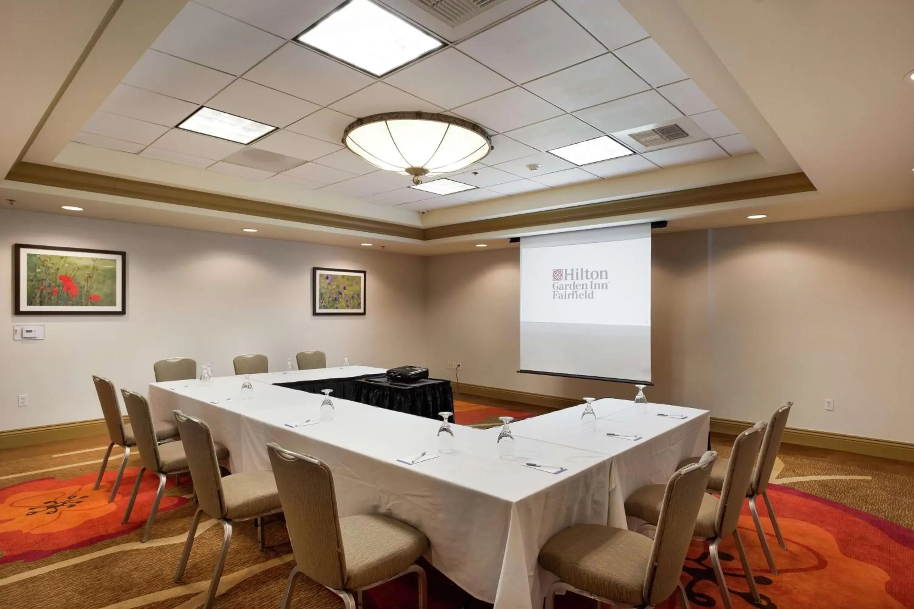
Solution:
[[[604,398],[511,424],[514,457],[500,457],[499,429],[452,425],[454,450],[437,452],[440,422],[335,399],[333,421],[320,419],[323,395],[274,383],[345,379],[385,371],[367,366],[152,383],[157,420],[175,409],[207,422],[228,447],[233,472],[269,470],[267,443],[323,460],[334,472],[339,513],[378,513],[408,522],[431,541],[426,558],[452,582],[497,609],[534,609],[555,577],[537,565],[546,541],[573,524],[626,527],[624,500],[646,484],[663,484],[685,457],[707,444],[709,413],[669,404]],[[663,415],[685,416],[673,418]],[[607,432],[641,436],[632,441]],[[428,451],[415,465],[398,459]],[[527,462],[567,468],[560,474]]]

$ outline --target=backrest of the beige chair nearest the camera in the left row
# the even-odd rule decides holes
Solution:
[[[343,588],[345,554],[330,467],[274,443],[267,452],[298,568],[328,588]]]

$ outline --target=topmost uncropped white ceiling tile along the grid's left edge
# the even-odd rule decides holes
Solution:
[[[240,76],[282,43],[281,37],[196,2],[188,2],[152,47]]]

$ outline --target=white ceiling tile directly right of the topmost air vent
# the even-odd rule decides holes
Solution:
[[[457,48],[518,84],[606,52],[552,2],[515,15]]]

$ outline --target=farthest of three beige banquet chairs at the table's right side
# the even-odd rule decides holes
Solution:
[[[765,500],[765,507],[768,508],[768,518],[771,519],[771,528],[778,538],[778,545],[781,549],[787,550],[787,544],[781,535],[781,527],[778,526],[778,519],[774,515],[774,508],[771,507],[771,499],[768,499],[768,481],[771,478],[771,471],[774,469],[774,461],[778,458],[778,451],[781,449],[781,438],[784,436],[784,427],[787,426],[787,417],[791,414],[792,402],[785,402],[774,411],[768,427],[765,429],[765,437],[761,441],[759,458],[755,462],[755,468],[752,470],[752,478],[749,482],[749,490],[746,497],[749,498],[749,512],[752,514],[752,520],[755,522],[755,530],[759,535],[759,543],[762,551],[765,553],[765,560],[768,561],[768,567],[771,573],[778,574],[778,568],[774,565],[774,558],[771,556],[771,548],[768,546],[768,540],[765,537],[765,530],[761,527],[759,518],[759,509],[756,506],[756,499],[761,497]],[[689,459],[688,461],[694,461]],[[680,464],[680,467],[685,465]],[[707,488],[719,491],[723,488],[724,478],[727,474],[728,459],[717,459],[714,468],[711,470],[711,478],[707,482]]]

